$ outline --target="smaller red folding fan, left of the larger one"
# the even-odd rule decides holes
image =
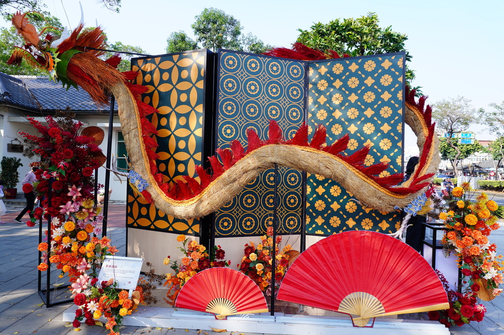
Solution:
[[[218,319],[268,311],[259,286],[228,267],[211,267],[193,276],[180,289],[175,306],[213,313]]]

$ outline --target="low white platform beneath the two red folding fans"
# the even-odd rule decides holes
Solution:
[[[68,308],[63,321],[72,322],[76,305]],[[374,327],[354,327],[348,318],[310,315],[278,315],[269,313],[245,316],[228,316],[227,320],[217,320],[212,314],[181,308],[139,307],[132,315],[124,316],[123,325],[204,329],[210,327],[235,332],[253,332],[281,335],[334,335],[342,333],[372,335],[450,335],[450,330],[437,321],[376,319]]]

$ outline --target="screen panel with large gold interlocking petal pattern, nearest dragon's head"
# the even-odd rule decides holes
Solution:
[[[203,113],[207,51],[191,51],[154,58],[132,59],[138,71],[137,84],[147,86],[144,102],[158,109],[148,116],[158,129],[157,166],[172,182],[183,175],[195,175],[202,164]],[[154,205],[128,191],[128,226],[185,234],[200,232],[199,220],[181,220],[167,216]]]

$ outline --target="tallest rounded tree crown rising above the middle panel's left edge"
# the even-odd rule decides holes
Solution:
[[[191,25],[196,41],[213,51],[218,48],[237,50],[240,47],[241,25],[222,10],[205,8]]]

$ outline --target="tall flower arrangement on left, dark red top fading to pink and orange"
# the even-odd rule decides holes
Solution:
[[[142,302],[142,290],[130,298],[128,292],[117,289],[113,280],[98,283],[96,278],[105,255],[118,250],[107,237],[96,237],[101,234],[98,222],[102,216],[94,202],[93,175],[105,156],[93,137],[79,135],[82,123],[74,121],[74,116],[68,111],[57,112],[55,118],[46,117],[47,126],[28,117],[40,136],[21,132],[25,155],[41,158],[40,169],[35,172],[38,181],[33,186],[23,185],[25,192],[34,190],[42,199],[41,207],[27,225],[51,218],[51,244],[39,244],[42,262],[37,267],[45,271],[53,263],[61,270],[60,278],[68,276],[78,306],[73,325],[80,326],[84,318],[88,325],[100,325],[95,319],[104,315],[105,327],[113,335],[117,334],[122,317]]]

